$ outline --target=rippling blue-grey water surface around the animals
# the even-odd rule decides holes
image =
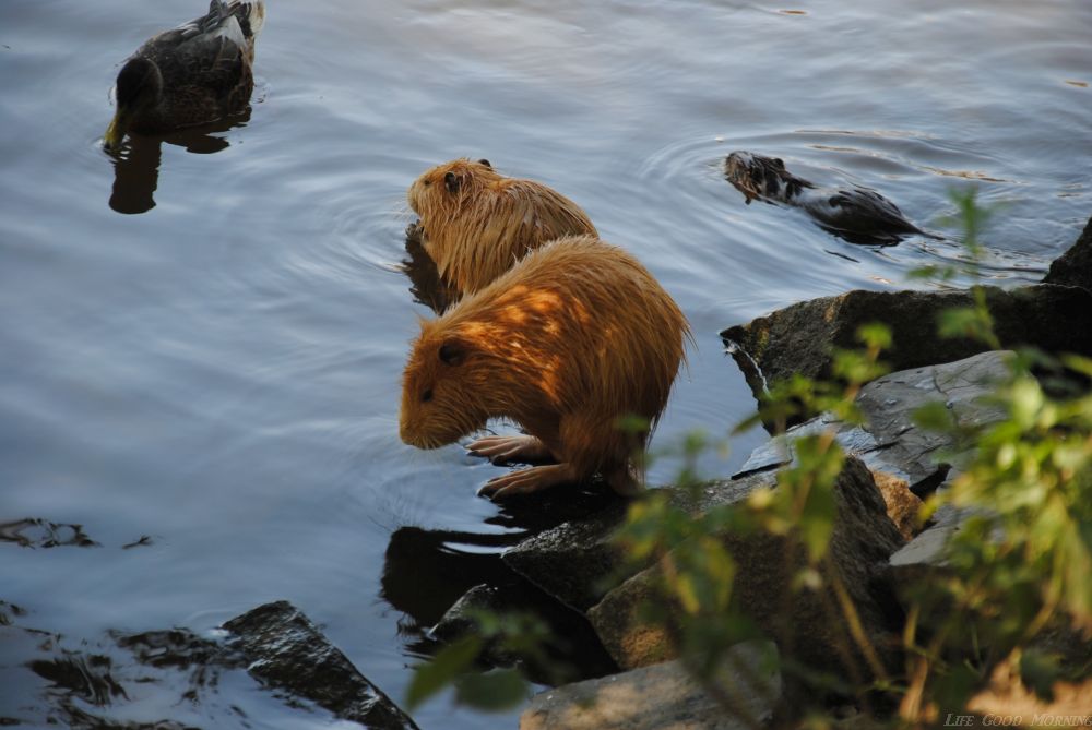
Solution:
[[[391,536],[513,529],[474,496],[497,468],[397,439],[399,376],[428,313],[400,270],[404,193],[430,165],[487,157],[554,186],[677,298],[698,349],[657,448],[752,411],[720,328],[902,288],[959,253],[857,247],[747,206],[717,171],[728,152],[876,188],[948,236],[947,191],[974,181],[1004,205],[986,242],[1006,286],[1040,278],[1092,212],[1084,0],[272,0],[246,122],[145,140],[115,164],[99,140],[120,62],[202,10],[0,7],[0,522],[80,524],[99,543],[0,543],[0,598],[75,644],[204,632],[286,598],[402,696],[419,637],[384,598]],[[447,597],[414,599],[427,614]],[[25,674],[27,656],[0,651],[0,675]],[[13,696],[0,716],[17,715]],[[251,723],[298,727],[254,704]],[[482,727],[444,699],[417,720]]]

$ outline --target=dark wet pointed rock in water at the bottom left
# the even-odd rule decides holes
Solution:
[[[266,603],[224,624],[263,684],[310,699],[367,728],[416,729],[311,621],[287,601]]]

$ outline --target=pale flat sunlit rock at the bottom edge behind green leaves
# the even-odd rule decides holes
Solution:
[[[680,661],[636,669],[535,695],[520,730],[736,730],[764,727],[781,695],[781,677],[765,659],[771,646],[739,644],[710,684]],[[763,656],[765,655],[765,656]],[[731,707],[731,709],[729,709]]]

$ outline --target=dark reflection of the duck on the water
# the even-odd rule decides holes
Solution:
[[[232,146],[223,134],[250,121],[250,107],[234,117],[169,134],[130,135],[114,158],[114,189],[110,208],[127,215],[147,213],[155,207],[159,184],[163,143],[183,147],[194,155],[212,155]]]

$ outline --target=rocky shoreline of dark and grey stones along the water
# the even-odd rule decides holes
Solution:
[[[851,291],[793,304],[725,330],[722,335],[748,374],[757,398],[768,383],[794,372],[829,376],[831,348],[853,346],[857,326],[876,320],[893,331],[894,347],[890,357],[885,357],[894,372],[868,383],[857,395],[856,404],[865,418],[863,426],[818,414],[756,450],[729,479],[708,482],[697,492],[663,488],[673,504],[696,516],[738,503],[755,490],[775,484],[778,470],[795,458],[796,439],[818,430],[833,430],[847,460],[834,490],[836,518],[829,570],[846,586],[860,627],[876,647],[880,667],[893,672],[898,672],[903,659],[898,631],[907,601],[902,589],[913,579],[945,570],[941,548],[963,519],[954,510],[942,510],[922,527],[915,519],[917,506],[922,499],[946,488],[973,448],[950,436],[921,430],[910,415],[925,403],[941,400],[957,423],[981,426],[1002,417],[997,406],[981,396],[1005,372],[1010,354],[984,350],[965,340],[940,343],[935,337],[937,313],[970,299],[966,291]],[[1013,290],[992,288],[987,302],[1004,347],[1033,345],[1047,351],[1092,356],[1092,220],[1072,249],[1054,263],[1043,284]],[[945,455],[942,460],[938,460],[939,454]],[[625,561],[609,539],[625,519],[627,504],[595,494],[566,502],[563,514],[539,519],[529,527],[524,539],[508,544],[499,561],[491,561],[483,570],[483,575],[492,577],[453,601],[429,632],[432,641],[443,643],[472,631],[474,623],[467,617],[478,609],[503,611],[548,602],[555,614],[551,623],[565,626],[558,633],[585,649],[597,644],[585,655],[594,659],[585,661],[582,672],[562,678],[569,683],[531,701],[520,722],[523,730],[767,727],[791,716],[786,706],[803,702],[808,692],[792,677],[771,669],[769,657],[779,655],[782,661],[857,678],[875,671],[875,662],[868,658],[839,650],[846,627],[831,625],[828,620],[823,606],[832,597],[823,595],[826,588],[799,595],[787,624],[774,625],[786,619],[776,601],[785,595],[793,573],[792,563],[784,560],[780,538],[725,534],[721,539],[743,566],[736,576],[737,598],[778,641],[737,645],[708,681],[696,681],[684,666],[673,637],[657,624],[646,622],[640,610],[657,583],[662,561]],[[541,513],[542,507],[539,504],[536,512]],[[23,520],[7,529],[20,540],[71,541],[78,537],[73,543],[95,544],[80,526]],[[34,530],[41,536],[32,536]],[[424,530],[396,534],[388,551],[389,562],[396,562],[402,553],[420,552],[417,548],[400,550],[402,542],[419,548],[423,540],[429,542],[432,537],[439,542],[455,539],[451,535],[430,536]],[[498,581],[496,576],[507,577]],[[397,603],[396,597],[390,600]],[[668,612],[672,610],[677,607],[667,607]],[[26,618],[24,610],[0,601],[0,635],[9,642],[46,642],[50,646],[60,642],[60,637],[50,638],[46,632],[23,625]],[[223,629],[218,642],[180,630],[115,638],[142,666],[155,661],[161,662],[158,666],[170,665],[175,657],[173,666],[192,671],[245,669],[289,703],[313,703],[336,718],[367,728],[416,727],[290,605],[281,601],[259,607],[226,622]],[[510,663],[518,658],[500,655],[492,659]],[[71,673],[50,667],[39,667],[35,672],[55,680]],[[76,682],[73,696],[117,694],[111,685],[117,682],[108,672],[96,673],[93,668],[85,674],[100,678],[102,685],[81,680],[83,684]],[[541,681],[556,683],[550,678]],[[735,711],[727,714],[725,697],[714,695],[731,695],[732,687],[739,686],[745,691],[728,698]],[[1092,706],[1087,696],[1069,701],[1076,703],[1073,706],[1089,701],[1084,706]],[[981,699],[980,707],[986,708],[983,711],[988,711],[988,696]],[[67,713],[87,715],[71,698],[58,701],[58,707],[60,710],[46,715],[70,722],[72,717]],[[848,714],[852,716],[852,709]],[[93,719],[100,721],[95,727],[104,728],[181,727],[173,720],[134,726]],[[20,716],[0,717],[0,725],[33,721]]]

